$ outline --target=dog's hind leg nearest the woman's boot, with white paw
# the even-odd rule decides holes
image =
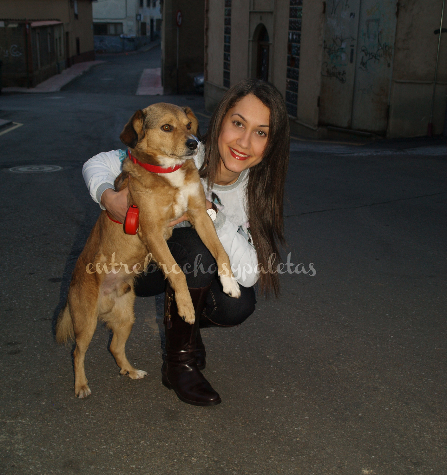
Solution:
[[[133,313],[134,301],[135,294],[133,293],[131,285],[129,285],[129,290],[115,300],[112,311],[105,315],[103,319],[107,322],[107,326],[113,331],[110,352],[115,358],[116,364],[121,368],[120,374],[127,375],[132,378],[132,380],[139,380],[147,376],[148,373],[146,371],[136,370],[128,361],[125,351],[127,339],[135,322]]]

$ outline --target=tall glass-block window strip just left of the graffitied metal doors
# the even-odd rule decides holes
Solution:
[[[289,115],[297,116],[299,47],[301,44],[301,19],[303,0],[290,0],[289,40],[287,43],[286,106]]]

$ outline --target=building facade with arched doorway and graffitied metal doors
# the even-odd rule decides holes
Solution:
[[[230,85],[258,77],[284,96],[292,133],[427,134],[442,0],[207,0],[205,10],[208,110]],[[434,134],[446,115],[446,41]]]

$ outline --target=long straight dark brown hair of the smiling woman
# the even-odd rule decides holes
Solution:
[[[218,140],[222,122],[227,112],[249,94],[270,109],[270,127],[262,161],[251,167],[249,173],[248,220],[259,267],[262,265],[264,269],[259,274],[260,291],[266,295],[274,292],[278,296],[279,279],[278,274],[272,272],[275,266],[271,266],[274,262],[271,256],[279,256],[278,243],[285,244],[282,205],[289,164],[290,131],[286,104],[274,85],[257,79],[243,79],[225,93],[203,138],[205,161],[200,176],[207,179],[208,190],[211,190],[219,170]]]

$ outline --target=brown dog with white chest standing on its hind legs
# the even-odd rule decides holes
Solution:
[[[160,103],[133,114],[120,135],[141,163],[181,168],[171,173],[154,173],[126,158],[115,187],[121,190],[129,186],[128,204],[140,209],[138,233],[124,234],[123,227],[102,211],[76,262],[67,303],[58,317],[56,341],[76,342],[75,395],[79,398],[91,394],[84,358],[98,320],[113,331],[110,351],[121,368],[120,374],[132,379],[147,376],[145,371],[132,367],[124,347],[135,321],[134,278],[148,264],[148,256],[163,269],[174,289],[178,314],[186,322],[194,323],[186,276],[166,242],[172,234],[170,221],[186,212],[217,262],[224,292],[236,298],[241,295],[228,256],[206,213],[205,192],[191,160],[196,155],[197,142],[192,134],[197,129],[198,121],[191,109]]]

